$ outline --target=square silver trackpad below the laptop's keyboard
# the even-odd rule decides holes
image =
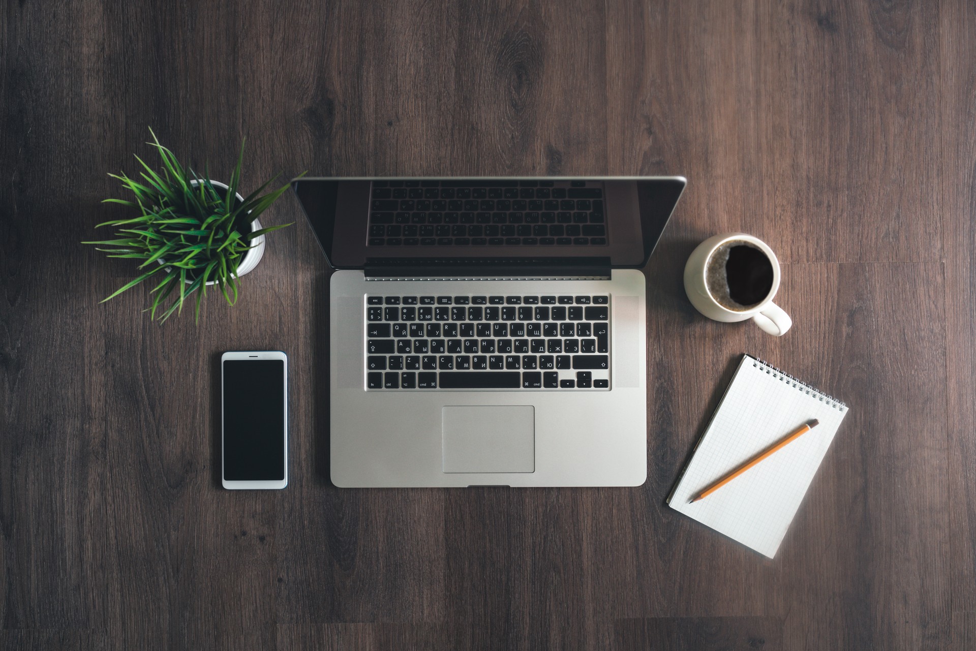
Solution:
[[[534,472],[535,407],[444,407],[444,472]]]

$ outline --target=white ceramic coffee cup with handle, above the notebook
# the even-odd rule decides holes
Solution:
[[[773,285],[769,294],[748,309],[736,310],[720,305],[709,290],[707,280],[709,261],[712,254],[730,240],[741,240],[752,244],[769,258],[769,262],[773,266]],[[790,315],[783,311],[779,305],[773,303],[773,297],[776,296],[779,289],[780,261],[776,259],[776,254],[765,242],[745,233],[725,233],[710,237],[698,245],[698,248],[688,258],[688,263],[684,265],[684,291],[688,294],[691,305],[695,305],[698,311],[710,319],[726,323],[752,319],[764,331],[777,337],[785,335],[787,330],[790,330],[790,326],[793,325]]]

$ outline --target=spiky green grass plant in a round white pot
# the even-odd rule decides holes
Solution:
[[[140,275],[129,281],[102,303],[113,299],[151,276],[163,276],[149,293],[152,304],[146,308],[151,318],[156,310],[177,293],[173,302],[159,312],[160,322],[175,311],[183,311],[183,303],[196,293],[196,320],[200,320],[200,302],[207,287],[217,285],[229,305],[237,302],[237,279],[252,270],[264,255],[264,234],[291,224],[263,228],[258,217],[288,188],[283,185],[262,195],[261,192],[278,178],[243,197],[238,193],[244,143],[241,142],[237,165],[230,175],[230,183],[213,181],[209,171],[199,175],[183,166],[172,151],[159,143],[156,135],[147,144],[156,148],[162,167],[153,170],[142,158],[139,181],[122,173],[109,174],[131,191],[134,200],[105,199],[139,211],[137,217],[111,220],[98,224],[115,226],[116,238],[83,242],[98,245],[109,258],[141,260]],[[101,248],[108,247],[108,248]]]

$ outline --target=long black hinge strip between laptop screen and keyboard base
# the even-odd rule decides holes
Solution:
[[[369,260],[366,280],[609,280],[609,258]]]

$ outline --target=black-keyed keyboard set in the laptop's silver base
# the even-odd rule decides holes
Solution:
[[[610,298],[367,296],[368,389],[610,387]]]

